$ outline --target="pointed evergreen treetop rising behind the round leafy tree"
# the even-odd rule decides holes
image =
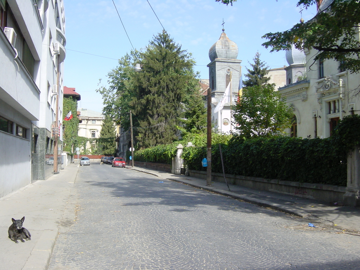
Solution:
[[[247,69],[248,73],[245,74],[247,80],[244,80],[243,85],[246,86],[260,86],[266,84],[270,78],[265,77],[269,71],[269,66],[266,65],[265,62],[260,60],[260,53],[257,52],[255,57],[253,58],[254,63],[250,63],[252,69]]]

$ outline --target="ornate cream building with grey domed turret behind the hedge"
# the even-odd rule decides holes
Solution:
[[[359,31],[357,38],[360,38]],[[314,63],[315,49],[300,52],[293,48],[291,53],[302,55],[306,61],[301,63],[301,58],[287,57],[287,78],[291,83],[279,88],[294,112],[293,125],[288,133],[302,138],[327,138],[344,116],[360,110],[360,96],[356,94],[360,74],[340,70],[339,62],[332,59]],[[296,81],[299,72],[306,76]]]

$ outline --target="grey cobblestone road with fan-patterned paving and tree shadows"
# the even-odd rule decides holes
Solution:
[[[126,168],[81,166],[50,270],[360,269],[360,238]]]

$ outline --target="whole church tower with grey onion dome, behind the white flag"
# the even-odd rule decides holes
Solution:
[[[238,99],[241,62],[238,57],[238,45],[231,41],[222,29],[220,39],[211,46],[209,50],[210,63],[209,84],[212,90],[212,123],[218,133],[229,133],[234,131],[231,126],[231,107],[234,108]],[[220,102],[226,87],[230,84],[231,78],[231,102],[225,103],[222,110],[214,113],[216,105]]]

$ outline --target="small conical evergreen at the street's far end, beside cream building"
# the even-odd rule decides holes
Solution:
[[[104,155],[113,155],[116,153],[114,121],[111,117],[105,116],[100,131],[98,145],[102,149]]]

